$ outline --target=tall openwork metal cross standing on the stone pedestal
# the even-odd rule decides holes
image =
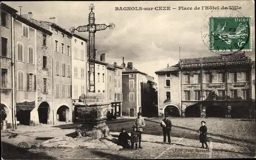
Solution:
[[[96,31],[105,30],[106,28],[114,29],[115,24],[110,23],[109,25],[106,24],[95,24],[95,17],[94,17],[94,5],[91,4],[89,10],[89,24],[78,26],[75,28],[72,26],[70,32],[74,33],[75,31],[78,32],[89,32],[89,92],[95,92],[95,33]]]

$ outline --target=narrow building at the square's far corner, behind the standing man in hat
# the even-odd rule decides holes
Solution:
[[[132,62],[128,62],[122,70],[123,116],[135,117],[141,112],[141,83],[147,82],[146,77],[147,74],[135,69]]]

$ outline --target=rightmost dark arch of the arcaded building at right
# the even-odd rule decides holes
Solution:
[[[249,109],[245,106],[232,106],[231,118],[249,118]]]

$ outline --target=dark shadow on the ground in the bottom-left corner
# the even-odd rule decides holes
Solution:
[[[2,142],[2,157],[4,159],[56,159],[44,152],[33,153],[29,150],[18,149],[6,142]]]

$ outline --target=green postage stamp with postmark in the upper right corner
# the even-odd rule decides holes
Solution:
[[[251,17],[210,17],[209,50],[250,51]]]

